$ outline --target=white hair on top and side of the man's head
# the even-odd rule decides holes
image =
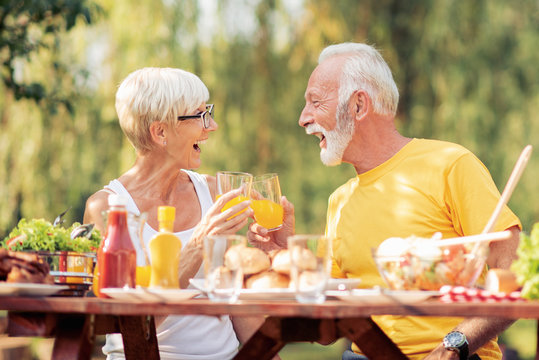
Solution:
[[[338,55],[347,56],[340,79],[339,104],[348,104],[354,91],[365,90],[375,113],[395,116],[399,90],[382,55],[370,45],[342,43],[326,47],[318,63]]]

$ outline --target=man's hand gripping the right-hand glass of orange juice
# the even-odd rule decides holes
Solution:
[[[295,233],[296,218],[294,216],[294,205],[288,199],[281,197],[283,206],[283,226],[279,230],[268,231],[258,223],[252,223],[247,232],[249,243],[264,250],[285,249],[287,238]]]

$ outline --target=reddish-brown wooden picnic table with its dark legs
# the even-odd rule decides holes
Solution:
[[[96,335],[121,332],[127,359],[158,359],[153,316],[200,314],[266,315],[266,321],[236,359],[271,359],[288,342],[329,344],[341,337],[358,344],[371,360],[406,359],[370,319],[371,315],[496,316],[539,319],[539,302],[363,304],[329,300],[321,305],[295,301],[191,299],[178,303],[124,302],[69,297],[0,297],[8,310],[11,336],[55,337],[53,359],[89,359]],[[536,357],[539,359],[539,355]]]

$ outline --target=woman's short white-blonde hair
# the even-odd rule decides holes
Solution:
[[[208,101],[208,88],[185,70],[147,67],[129,74],[116,92],[120,127],[138,152],[153,148],[150,125],[174,124],[180,115],[196,113]]]

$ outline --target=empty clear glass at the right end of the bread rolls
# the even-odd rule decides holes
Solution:
[[[324,235],[288,237],[290,277],[296,300],[320,304],[331,273],[331,241]]]

